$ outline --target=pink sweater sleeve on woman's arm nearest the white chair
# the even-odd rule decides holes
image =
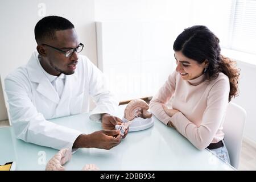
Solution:
[[[208,94],[207,108],[200,126],[189,121],[181,112],[171,117],[171,122],[176,130],[199,150],[209,146],[221,126],[228,106],[229,90],[228,77],[221,78],[213,84]]]

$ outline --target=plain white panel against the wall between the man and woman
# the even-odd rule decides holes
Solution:
[[[98,67],[119,101],[154,96],[174,70],[175,28],[170,24],[97,22]]]

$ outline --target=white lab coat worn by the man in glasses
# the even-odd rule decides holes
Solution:
[[[75,73],[66,76],[61,98],[43,73],[37,52],[32,53],[27,65],[5,78],[5,91],[16,137],[58,150],[71,149],[81,132],[47,119],[81,113],[84,102],[89,111],[89,96],[96,102],[90,113],[93,120],[99,121],[100,113],[113,114],[118,106],[106,88],[103,73],[81,55]]]

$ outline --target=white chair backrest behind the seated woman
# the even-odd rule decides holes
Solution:
[[[238,169],[246,111],[237,104],[229,103],[223,123],[224,141],[229,151],[230,163]]]

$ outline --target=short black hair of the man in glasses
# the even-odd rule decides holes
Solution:
[[[74,25],[60,16],[46,16],[39,20],[35,26],[35,39],[39,43],[44,39],[55,39],[55,31],[68,30],[74,28]]]

